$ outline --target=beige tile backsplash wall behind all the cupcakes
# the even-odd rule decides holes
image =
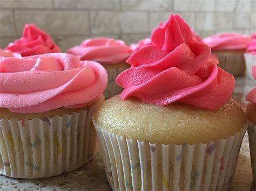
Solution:
[[[256,0],[0,0],[0,48],[35,23],[66,51],[90,37],[136,43],[170,12],[196,32],[256,32]]]

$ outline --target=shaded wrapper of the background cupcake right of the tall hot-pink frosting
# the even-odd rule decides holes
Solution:
[[[243,53],[213,52],[219,60],[219,67],[233,75],[245,74],[245,59]]]

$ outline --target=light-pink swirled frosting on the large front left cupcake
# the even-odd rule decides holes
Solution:
[[[103,66],[71,54],[5,58],[0,69],[0,108],[18,113],[79,107],[98,98],[107,84]]]

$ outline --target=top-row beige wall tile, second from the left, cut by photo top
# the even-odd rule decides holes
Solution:
[[[119,0],[55,0],[56,8],[118,10]]]

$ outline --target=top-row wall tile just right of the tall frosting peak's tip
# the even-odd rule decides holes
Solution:
[[[214,11],[214,0],[174,0],[174,11]]]

